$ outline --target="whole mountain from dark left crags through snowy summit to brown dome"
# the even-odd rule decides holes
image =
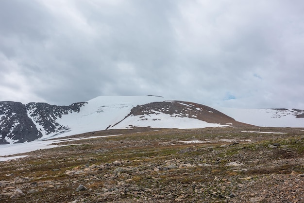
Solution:
[[[133,127],[204,128],[245,125],[210,107],[158,96],[97,97],[56,106],[0,102],[0,144]]]

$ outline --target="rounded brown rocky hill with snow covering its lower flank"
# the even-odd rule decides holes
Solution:
[[[245,126],[208,106],[186,101],[162,101],[138,105],[129,115],[111,128],[203,128]]]

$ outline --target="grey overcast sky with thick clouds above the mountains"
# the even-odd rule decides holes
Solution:
[[[303,0],[1,0],[0,101],[304,109]]]

